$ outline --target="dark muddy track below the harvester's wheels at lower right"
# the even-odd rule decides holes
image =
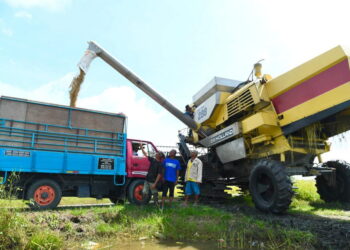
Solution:
[[[243,213],[287,229],[309,231],[317,236],[315,249],[350,249],[350,218],[347,216],[273,215],[243,205],[210,204],[210,206],[232,213]]]

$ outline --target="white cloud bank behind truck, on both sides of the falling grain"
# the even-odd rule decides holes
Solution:
[[[68,90],[74,74],[67,74],[34,90],[23,90],[0,82],[0,95],[14,96],[56,104],[69,104]],[[85,86],[87,83],[84,83]],[[84,94],[84,85],[81,94]],[[112,113],[124,113],[128,117],[128,137],[150,140],[156,145],[175,146],[177,131],[185,125],[166,111],[158,111],[151,100],[140,98],[130,86],[108,88],[89,97],[78,97],[77,106]]]

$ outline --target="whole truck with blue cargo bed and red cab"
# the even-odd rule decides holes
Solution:
[[[127,139],[126,121],[123,114],[0,97],[1,184],[15,186],[37,209],[56,207],[62,196],[147,203],[149,161],[140,145],[150,156],[157,148]]]

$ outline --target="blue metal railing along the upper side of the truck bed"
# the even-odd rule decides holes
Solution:
[[[29,129],[27,125],[42,129]],[[75,133],[55,132],[50,128]],[[84,134],[77,134],[81,131]],[[93,133],[96,135],[89,135]],[[0,147],[123,156],[125,137],[117,132],[0,119]]]

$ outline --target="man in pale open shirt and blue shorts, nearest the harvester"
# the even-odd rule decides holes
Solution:
[[[188,198],[190,195],[194,195],[194,205],[198,204],[200,193],[199,183],[202,182],[203,163],[197,156],[198,152],[192,151],[191,159],[187,163],[185,175],[185,206],[187,206]]]

